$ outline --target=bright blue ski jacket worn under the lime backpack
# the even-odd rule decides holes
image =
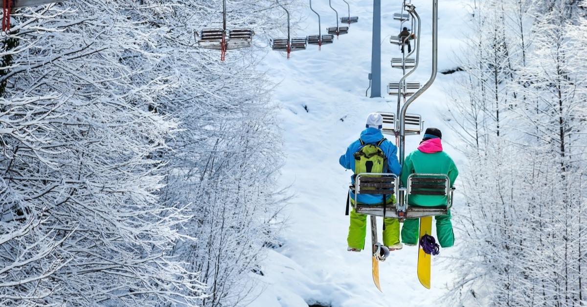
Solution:
[[[377,128],[367,128],[361,132],[359,138],[362,139],[366,144],[375,144],[381,141],[383,134]],[[346,153],[340,156],[340,159],[338,160],[343,168],[353,171],[353,175],[355,175],[355,157],[353,154],[355,154],[355,152],[357,152],[360,147],[361,142],[357,139],[355,142],[349,145],[349,147],[346,149]],[[397,160],[397,146],[393,145],[393,143],[389,140],[385,140],[379,146],[379,148],[381,148],[383,154],[387,158],[387,172],[394,173],[399,176],[402,172],[402,165],[400,165],[400,162]],[[354,185],[355,178],[353,175],[350,176],[350,180]],[[387,196],[388,201],[391,199],[391,197],[392,195]],[[350,192],[350,199],[355,202],[355,193],[352,191]],[[359,194],[357,202],[369,204],[382,203],[383,195]]]

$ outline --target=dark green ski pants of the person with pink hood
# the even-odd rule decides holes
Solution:
[[[434,216],[436,219],[436,237],[441,247],[454,245],[453,223],[450,222],[450,210],[447,214]],[[420,219],[406,219],[402,227],[402,242],[416,245],[420,237]]]

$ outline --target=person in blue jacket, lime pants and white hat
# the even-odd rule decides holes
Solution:
[[[381,129],[383,128],[383,118],[378,113],[372,113],[367,116],[366,129],[360,134],[360,140],[365,144],[376,144],[383,139]],[[343,168],[355,170],[355,157],[353,154],[359,150],[362,146],[359,139],[349,145],[346,149],[346,153],[340,156],[339,163]],[[383,154],[387,158],[387,170],[390,173],[394,173],[399,176],[402,171],[402,166],[397,160],[397,147],[393,145],[389,140],[385,140],[380,144],[379,148],[382,149]],[[354,173],[350,177],[352,184],[355,184]],[[355,193],[350,193],[350,201],[355,203]],[[381,204],[383,203],[383,195],[372,195],[372,194],[359,194],[357,195],[357,202],[366,204]],[[394,203],[395,198],[393,195],[388,195],[386,198],[387,203]],[[390,250],[402,248],[400,243],[400,223],[397,219],[384,218],[385,230],[383,231],[383,245],[388,246]],[[347,242],[349,247],[348,251],[360,251],[365,249],[365,235],[367,231],[367,215],[356,213],[353,208],[350,212],[350,226],[349,236]]]

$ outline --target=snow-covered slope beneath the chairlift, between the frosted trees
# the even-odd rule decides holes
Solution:
[[[281,128],[285,139],[287,161],[282,169],[281,186],[291,185],[295,198],[286,211],[288,226],[282,235],[284,245],[270,251],[259,278],[258,297],[254,307],[322,306],[436,306],[453,281],[449,258],[459,256],[458,199],[453,209],[456,245],[441,249],[432,261],[432,288],[420,285],[416,276],[417,248],[404,246],[380,263],[383,293],[373,285],[369,252],[346,252],[348,216],[345,216],[346,193],[350,171],[339,165],[339,156],[365,128],[367,114],[374,111],[396,112],[396,96],[387,95],[386,84],[399,81],[400,69],[390,60],[401,56],[389,35],[400,32],[400,22],[393,13],[400,12],[400,1],[382,4],[382,95],[368,98],[367,74],[370,72],[372,1],[349,0],[352,16],[359,22],[350,26],[349,34],[340,35],[332,45],[308,45],[306,51],[271,52],[264,61],[265,69],[279,82],[275,100],[282,106]],[[443,132],[444,149],[463,169],[463,158],[454,149],[456,134],[450,122],[439,115],[450,99],[453,75],[440,71],[456,68],[454,53],[463,33],[465,4],[462,1],[439,1],[438,4],[438,75],[431,88],[408,109],[420,114],[424,128],[435,126]],[[408,81],[422,84],[431,75],[431,11],[432,1],[413,0],[421,16],[421,49],[419,69]],[[335,14],[327,1],[312,3],[321,14],[322,29],[335,25]],[[346,5],[332,0],[339,17],[346,15]],[[311,11],[305,32],[295,36],[318,34],[318,20]],[[406,24],[410,28],[410,24]],[[324,32],[324,31],[323,31]],[[414,45],[413,45],[414,46]],[[455,50],[455,51],[453,51]],[[389,136],[393,140],[392,137]],[[416,148],[421,137],[410,136],[406,153]],[[459,178],[456,182],[457,192]],[[379,228],[381,220],[379,219]],[[380,234],[379,234],[379,238]],[[370,243],[370,238],[366,239]]]

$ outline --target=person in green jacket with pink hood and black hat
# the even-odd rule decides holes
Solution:
[[[411,173],[444,173],[453,185],[458,176],[457,166],[453,159],[442,150],[442,133],[437,128],[428,128],[418,148],[406,156],[400,179],[406,186],[407,177]],[[447,196],[409,195],[410,206],[441,206],[446,205]],[[447,214],[437,215],[436,236],[443,248],[454,245],[453,224],[450,221],[450,210]],[[419,238],[419,219],[406,219],[402,228],[402,242],[416,245]]]

